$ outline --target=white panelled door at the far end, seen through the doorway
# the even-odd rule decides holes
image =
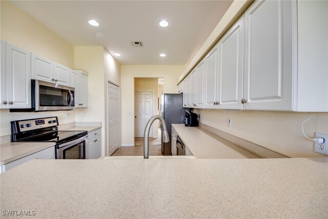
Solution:
[[[153,116],[153,92],[135,91],[134,108],[134,136],[144,137],[147,122]],[[149,137],[153,137],[153,130],[150,129]]]

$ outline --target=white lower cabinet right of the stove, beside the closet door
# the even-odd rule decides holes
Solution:
[[[89,133],[88,159],[98,159],[101,156],[101,129]]]

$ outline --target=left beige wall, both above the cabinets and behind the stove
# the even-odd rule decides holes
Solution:
[[[47,29],[10,1],[1,1],[1,39],[47,57],[61,65],[74,67],[74,47]],[[0,136],[11,134],[10,121],[58,116],[59,124],[75,122],[75,110],[56,112],[9,112],[0,110]]]

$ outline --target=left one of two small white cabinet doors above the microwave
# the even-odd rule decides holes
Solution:
[[[34,53],[31,56],[32,79],[54,82],[53,62]]]

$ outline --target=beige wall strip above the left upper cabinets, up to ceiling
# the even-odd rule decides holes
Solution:
[[[1,4],[1,39],[69,68],[74,47],[10,1]]]

